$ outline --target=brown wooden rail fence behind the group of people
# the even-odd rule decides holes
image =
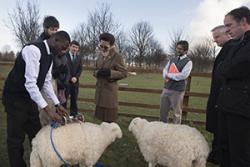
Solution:
[[[0,65],[13,65],[13,63],[4,63],[0,62]],[[187,88],[184,96],[184,101],[183,101],[183,122],[193,122],[195,124],[204,124],[204,121],[201,120],[187,120],[187,115],[188,113],[198,113],[198,114],[205,114],[205,109],[197,109],[197,108],[192,108],[189,106],[189,99],[190,97],[199,97],[199,98],[207,98],[208,93],[197,93],[197,92],[190,92],[190,86],[191,86],[191,81],[193,77],[205,77],[205,78],[210,78],[211,74],[210,73],[191,73],[191,75],[188,78],[187,82]],[[5,78],[0,75],[0,80],[4,80]],[[88,88],[88,89],[95,89],[95,85],[87,85],[87,84],[80,84],[80,89],[81,88]],[[2,88],[0,88],[0,91]],[[149,93],[149,94],[159,94],[162,92],[162,89],[143,89],[143,88],[127,88],[127,87],[119,87],[119,91],[125,91],[125,92],[135,92],[135,93]],[[83,98],[79,97],[78,101],[80,102],[90,102],[94,103],[94,99],[90,98]],[[143,104],[143,103],[131,103],[131,102],[126,102],[126,101],[119,101],[120,106],[128,106],[128,107],[139,107],[139,108],[145,108],[145,109],[159,109],[159,105],[155,104]],[[86,108],[79,108],[80,112],[93,112],[93,109],[86,109]],[[144,117],[144,118],[153,118],[153,119],[158,119],[156,116],[149,116],[149,115],[138,115],[138,114],[130,114],[130,113],[124,113],[124,112],[119,112],[119,115],[126,116],[126,117]]]

